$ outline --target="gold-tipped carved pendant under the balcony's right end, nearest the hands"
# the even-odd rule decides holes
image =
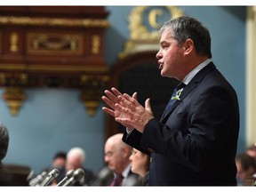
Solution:
[[[101,95],[108,84],[109,76],[81,76],[81,84],[84,86],[81,99],[89,116],[94,116],[96,109],[99,107]]]

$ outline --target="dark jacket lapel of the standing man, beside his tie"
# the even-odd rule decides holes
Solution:
[[[211,62],[209,63],[207,66],[205,66],[205,68],[203,68],[202,70],[200,70],[196,76],[194,76],[191,81],[184,87],[183,92],[180,95],[180,100],[175,100],[175,102],[172,104],[172,107],[170,108],[170,110],[168,111],[168,113],[165,113],[161,119],[160,122],[164,122],[166,117],[169,116],[173,109],[176,108],[180,102],[182,102],[182,100],[184,100],[184,98],[186,98],[188,96],[188,93],[191,92],[196,86],[197,84],[199,84],[202,79],[204,78],[204,76],[209,73],[210,71],[212,71],[215,67],[215,65]]]

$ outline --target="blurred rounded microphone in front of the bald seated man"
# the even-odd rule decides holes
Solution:
[[[98,179],[93,182],[93,186],[109,186],[113,180],[114,173],[108,168],[104,167],[98,174]]]

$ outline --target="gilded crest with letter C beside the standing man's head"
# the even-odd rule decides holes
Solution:
[[[143,19],[145,18],[143,14],[146,14],[145,11],[148,9],[148,6],[135,7],[129,16],[130,38],[124,45],[124,52],[118,55],[120,59],[135,52],[158,49],[158,29],[162,24],[157,23],[156,18],[164,16],[164,8],[170,13],[171,19],[183,14],[183,11],[175,6],[156,6],[150,8],[152,9],[146,18],[148,18],[150,27],[156,30],[148,29],[148,27],[143,24]]]

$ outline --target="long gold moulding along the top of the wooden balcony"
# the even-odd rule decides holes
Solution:
[[[50,27],[79,27],[79,28],[107,28],[108,20],[92,19],[58,19],[1,16],[0,25],[19,26],[50,26]]]

